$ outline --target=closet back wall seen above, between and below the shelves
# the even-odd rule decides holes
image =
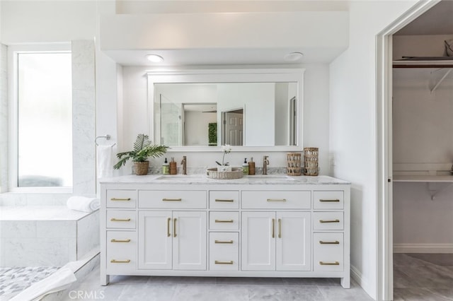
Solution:
[[[394,59],[441,57],[447,39],[453,36],[394,35]],[[431,92],[447,71],[393,70],[394,175],[404,174],[403,170],[449,175],[453,71]],[[453,175],[452,183],[394,182],[394,251],[453,253]]]

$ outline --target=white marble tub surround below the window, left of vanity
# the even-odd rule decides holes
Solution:
[[[99,211],[1,206],[0,266],[63,266],[99,245]]]

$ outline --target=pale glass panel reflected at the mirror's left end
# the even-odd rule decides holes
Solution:
[[[183,144],[180,107],[164,95],[160,95],[160,109],[160,143],[166,146],[180,146]]]

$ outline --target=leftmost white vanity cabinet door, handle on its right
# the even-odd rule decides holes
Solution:
[[[139,268],[171,269],[171,211],[139,212]]]

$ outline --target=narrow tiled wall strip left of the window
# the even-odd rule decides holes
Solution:
[[[8,191],[8,48],[0,44],[0,192]]]

